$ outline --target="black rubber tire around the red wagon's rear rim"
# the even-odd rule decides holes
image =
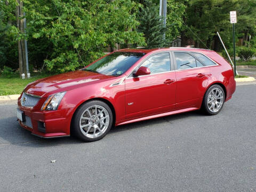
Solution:
[[[217,88],[217,89],[216,89]],[[221,90],[222,94],[223,94],[223,100],[222,100],[222,105],[221,107],[218,109],[218,111],[211,111],[209,109],[209,105],[208,105],[208,102],[207,102],[207,99],[209,97],[209,94],[211,93],[212,90]],[[224,90],[222,89],[222,87],[220,85],[212,85],[209,87],[209,89],[205,92],[204,94],[204,99],[203,99],[203,102],[202,102],[202,106],[201,106],[201,110],[206,114],[206,115],[217,115],[218,113],[220,113],[221,109],[223,108],[224,106],[224,102],[225,102],[225,92]],[[218,101],[218,100],[217,100]],[[215,106],[214,106],[215,107]]]

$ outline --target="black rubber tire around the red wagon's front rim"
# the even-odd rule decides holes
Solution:
[[[86,134],[85,130],[83,130],[82,128],[80,128],[80,119],[82,118],[82,115],[84,117],[84,113],[87,113],[85,112],[86,109],[92,107],[92,106],[101,106],[103,108],[105,108],[107,111],[106,111],[106,114],[108,113],[109,114],[109,124],[108,126],[106,126],[106,129],[105,131],[103,132],[103,134],[99,135],[99,137],[95,137],[95,138],[90,138],[90,137],[87,137],[86,135],[89,135],[89,134]],[[93,108],[92,108],[93,109]],[[90,109],[91,110],[91,109]],[[98,109],[97,109],[98,111]],[[90,113],[91,114],[91,113]],[[95,109],[94,109],[94,116],[95,118],[97,117],[97,115],[95,114]],[[92,115],[93,117],[93,115]],[[87,117],[86,117],[87,118]],[[105,117],[106,118],[106,117]],[[88,121],[89,123],[89,120],[85,120],[85,121]],[[91,121],[91,120],[90,120]],[[95,120],[94,120],[95,121]],[[100,121],[100,118],[99,120]],[[106,119],[107,121],[107,119]],[[92,122],[93,123],[93,122]],[[86,124],[86,123],[85,123]],[[95,125],[97,124],[97,122],[95,123]],[[100,123],[98,123],[99,125]],[[93,125],[93,124],[92,124]],[[95,126],[94,125],[94,126]],[[92,142],[92,141],[98,141],[100,139],[102,139],[103,137],[105,137],[105,135],[109,132],[109,130],[111,129],[113,125],[113,113],[110,109],[110,107],[107,105],[107,103],[105,102],[102,102],[100,100],[92,100],[92,101],[88,101],[88,102],[85,102],[83,103],[81,106],[79,106],[74,114],[74,117],[72,119],[72,122],[71,122],[71,132],[78,138],[86,141],[86,142]],[[95,128],[93,126],[91,126],[92,130],[94,130]],[[82,130],[84,131],[82,131]],[[87,130],[89,129],[89,127],[87,128]],[[98,130],[98,129],[95,129],[95,130]],[[91,130],[90,130],[91,131]],[[89,132],[90,133],[90,132]],[[99,130],[98,130],[98,133],[99,133]],[[94,134],[93,134],[94,136]]]

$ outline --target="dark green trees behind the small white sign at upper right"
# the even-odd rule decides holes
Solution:
[[[187,2],[186,29],[183,36],[193,38],[196,47],[221,50],[219,31],[224,43],[232,45],[232,25],[229,12],[237,11],[236,37],[247,39],[249,31],[255,33],[255,0],[191,0]],[[247,31],[247,32],[246,32]],[[247,34],[247,35],[246,35]],[[236,38],[237,39],[237,38]]]

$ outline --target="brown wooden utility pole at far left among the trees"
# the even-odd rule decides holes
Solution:
[[[16,17],[17,17],[17,28],[20,30],[22,34],[24,34],[24,19],[23,17],[23,2],[20,0],[17,0],[17,7],[16,7]],[[20,77],[22,77],[22,74],[25,74],[25,77],[27,77],[27,68],[26,68],[26,46],[25,46],[25,40],[24,39],[18,39],[18,52],[19,52],[19,69],[20,69]]]

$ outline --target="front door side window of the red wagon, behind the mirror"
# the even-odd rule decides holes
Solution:
[[[155,54],[143,62],[141,66],[149,68],[151,74],[170,71],[170,55],[169,53]]]

